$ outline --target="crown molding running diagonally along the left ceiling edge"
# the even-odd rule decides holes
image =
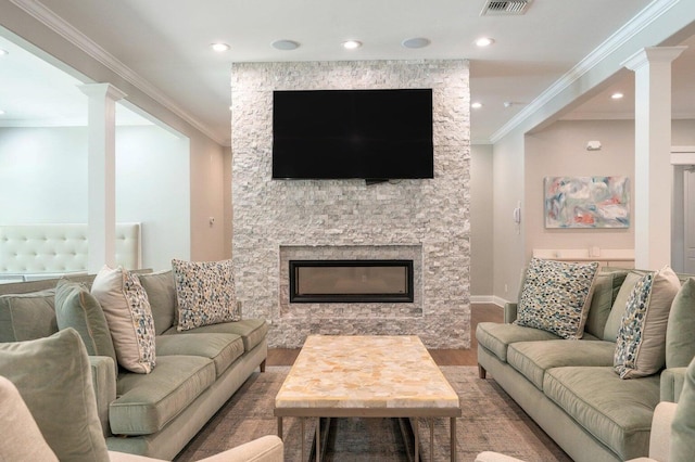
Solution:
[[[216,143],[224,145],[225,140],[218,138],[207,127],[197,120],[193,116],[184,111],[174,101],[172,101],[166,94],[162,93],[156,87],[150,84],[144,78],[140,77],[131,68],[118,61],[114,55],[109,53],[89,37],[80,33],[73,25],[65,20],[53,13],[46,5],[38,0],[10,0],[13,4],[21,8],[24,12],[31,17],[43,24],[49,29],[63,37],[65,40],[84,51],[90,57],[97,60],[109,69],[121,76],[127,82],[131,84],[154,101],[160,103],[166,110],[170,111],[195,129],[211,138]]]

